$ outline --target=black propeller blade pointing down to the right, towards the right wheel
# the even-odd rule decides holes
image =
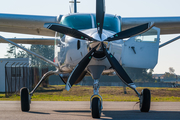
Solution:
[[[102,43],[103,50],[106,54],[107,59],[109,60],[112,68],[116,71],[116,74],[119,76],[119,78],[129,87],[136,88],[135,84],[131,80],[131,78],[128,76],[126,71],[123,69],[123,67],[119,64],[119,62],[116,60],[116,58],[107,50],[105,45]]]

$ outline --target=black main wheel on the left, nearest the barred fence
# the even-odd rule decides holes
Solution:
[[[21,88],[21,110],[23,112],[28,112],[30,110],[30,99],[29,99],[29,90],[26,87]]]

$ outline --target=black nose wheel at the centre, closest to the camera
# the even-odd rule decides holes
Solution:
[[[101,117],[101,101],[98,97],[94,97],[91,103],[91,114],[93,118]]]

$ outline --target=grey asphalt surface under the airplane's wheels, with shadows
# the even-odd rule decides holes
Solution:
[[[22,112],[19,101],[0,101],[0,120],[92,120],[90,102],[32,101]],[[180,120],[180,102],[153,102],[149,113],[141,113],[135,102],[103,102],[101,119]]]

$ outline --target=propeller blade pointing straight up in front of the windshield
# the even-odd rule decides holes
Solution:
[[[101,38],[105,14],[105,1],[96,0],[96,25],[99,37]]]

